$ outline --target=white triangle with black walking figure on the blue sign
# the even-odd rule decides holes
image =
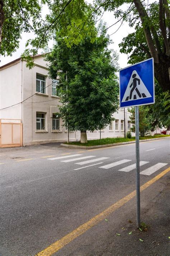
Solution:
[[[133,70],[122,102],[152,97],[136,70]]]

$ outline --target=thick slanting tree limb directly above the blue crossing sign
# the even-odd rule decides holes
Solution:
[[[133,2],[134,2],[134,5],[135,5],[138,13],[139,13],[139,16],[141,18],[141,22],[142,22],[142,25],[143,25],[143,30],[145,32],[146,41],[147,41],[148,48],[150,49],[151,56],[154,58],[155,63],[159,63],[157,50],[156,50],[154,42],[152,40],[150,28],[149,28],[148,24],[145,24],[145,19],[146,19],[145,8],[142,5],[140,0],[133,0]]]

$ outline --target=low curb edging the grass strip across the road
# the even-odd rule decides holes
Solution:
[[[169,139],[170,137],[164,137],[164,138],[155,138],[155,139],[146,139],[146,140],[140,140],[140,142],[146,142],[150,140],[162,140],[162,139]],[[61,147],[66,147],[66,148],[82,148],[82,149],[93,149],[93,148],[106,148],[106,147],[113,147],[117,145],[124,145],[124,144],[132,144],[135,143],[134,141],[131,142],[118,142],[118,143],[112,143],[112,144],[104,144],[104,145],[95,145],[95,146],[78,146],[78,145],[68,145],[68,144],[63,144],[61,143]]]

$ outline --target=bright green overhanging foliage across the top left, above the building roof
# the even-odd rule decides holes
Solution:
[[[46,6],[49,14],[42,18],[42,8]],[[1,6],[0,6],[1,7]],[[66,45],[71,47],[86,36],[95,40],[93,7],[84,0],[6,0],[3,6],[2,41],[0,54],[12,55],[19,48],[22,32],[34,32],[35,38],[29,39],[22,58],[27,60],[27,67],[34,66],[31,56],[38,54],[38,49],[48,46],[56,32],[60,31]]]

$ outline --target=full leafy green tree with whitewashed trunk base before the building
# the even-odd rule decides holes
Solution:
[[[70,48],[57,35],[47,55],[50,76],[60,77],[60,116],[69,130],[81,132],[82,143],[87,130],[103,129],[118,109],[117,54],[108,49],[109,43],[103,28],[95,40],[86,36]]]

